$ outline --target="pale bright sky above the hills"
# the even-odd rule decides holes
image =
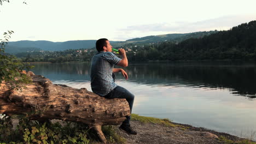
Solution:
[[[255,0],[10,0],[0,5],[0,34],[14,31],[9,41],[57,42],[223,31],[256,20],[255,5]]]

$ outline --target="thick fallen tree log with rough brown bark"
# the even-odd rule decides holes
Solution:
[[[54,85],[41,75],[28,71],[32,83],[22,91],[0,87],[0,113],[21,115],[32,110],[42,111],[30,118],[62,119],[63,121],[82,122],[94,128],[100,140],[106,143],[101,131],[102,125],[118,125],[130,115],[129,104],[125,99],[106,99],[87,91],[86,88],[72,88]]]

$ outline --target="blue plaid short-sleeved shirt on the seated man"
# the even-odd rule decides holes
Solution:
[[[112,52],[98,52],[91,60],[91,90],[104,96],[117,87],[114,83],[112,73],[114,64],[121,61]]]

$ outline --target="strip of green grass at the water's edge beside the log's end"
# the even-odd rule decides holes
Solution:
[[[171,120],[168,119],[168,118],[161,119],[161,118],[154,118],[154,117],[144,117],[144,116],[139,116],[139,115],[134,114],[134,113],[131,114],[131,120],[132,121],[139,121],[139,122],[142,122],[142,123],[162,124],[162,125],[165,125],[167,127],[182,127],[183,129],[187,128],[187,127],[184,127],[183,125],[173,124],[171,122]]]

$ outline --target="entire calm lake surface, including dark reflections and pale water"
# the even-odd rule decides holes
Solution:
[[[53,83],[90,88],[90,64],[33,64]],[[250,137],[256,131],[256,65],[242,62],[129,64],[132,113]],[[255,139],[255,137],[254,137]]]

